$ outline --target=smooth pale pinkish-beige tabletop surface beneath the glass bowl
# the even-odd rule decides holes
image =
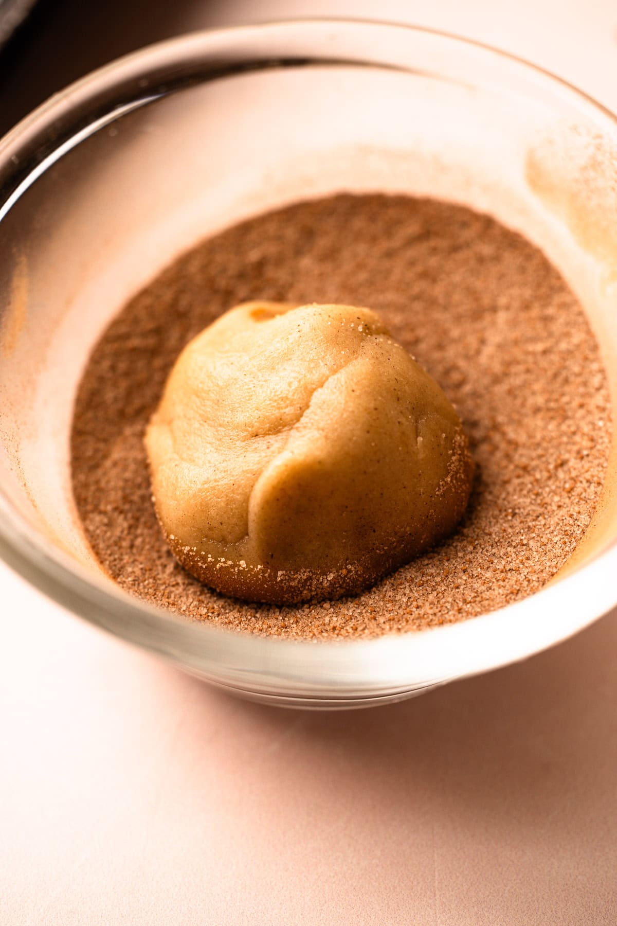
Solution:
[[[140,44],[307,12],[459,31],[617,108],[617,7],[598,0],[43,0],[0,56],[0,127]],[[1,565],[0,632],[2,926],[617,923],[617,614],[331,715],[218,694]]]

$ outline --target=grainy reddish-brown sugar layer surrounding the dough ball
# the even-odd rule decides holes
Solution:
[[[205,325],[252,299],[376,309],[469,435],[475,487],[457,532],[358,597],[222,597],[179,566],[154,516],[143,432],[167,373]],[[324,639],[450,623],[536,592],[585,533],[610,445],[598,344],[536,247],[462,206],[344,194],[229,228],[131,299],[90,358],[71,454],[84,530],[124,589],[188,619]]]

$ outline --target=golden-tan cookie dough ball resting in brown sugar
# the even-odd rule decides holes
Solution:
[[[362,591],[471,488],[454,408],[368,308],[232,308],[180,354],[145,442],[174,555],[250,601]]]

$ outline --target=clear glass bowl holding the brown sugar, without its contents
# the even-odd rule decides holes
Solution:
[[[117,588],[80,529],[68,434],[89,352],[128,295],[210,232],[341,190],[428,194],[523,232],[586,307],[614,394],[616,152],[611,114],[549,74],[377,22],[191,34],[56,95],[0,144],[0,553],[208,682],[303,707],[418,694],[598,619],[617,602],[614,454],[586,538],[539,593],[426,632],[311,643],[191,623]]]

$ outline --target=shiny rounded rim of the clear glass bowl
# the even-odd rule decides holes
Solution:
[[[497,56],[511,62],[517,71],[541,81],[549,91],[567,94],[587,112],[608,120],[613,131],[617,125],[617,119],[605,106],[548,70],[450,32],[350,18],[288,19],[196,31],[148,45],[92,71],[52,96],[9,131],[0,141],[0,220],[31,182],[74,144],[128,109],[167,95],[153,94],[148,81],[142,80],[139,102],[131,105],[129,101],[117,100],[113,108],[107,105],[106,115],[92,119],[93,109],[102,104],[105,94],[121,90],[127,81],[134,88],[140,75],[143,79],[145,74],[153,73],[154,66],[160,67],[159,59],[168,65],[197,54],[212,61],[226,51],[229,53],[240,40],[250,43],[253,36],[267,38],[268,34],[276,33],[280,40],[286,31],[328,28],[397,34],[406,31],[416,36],[416,41],[418,36],[426,36],[431,41],[472,49],[480,56]],[[314,63],[325,60],[331,62],[331,58],[320,55],[311,58]],[[348,56],[333,63],[363,62]],[[379,67],[375,61],[364,64]],[[81,125],[88,112],[90,120]],[[68,137],[50,148],[50,127],[61,118],[69,119]],[[47,145],[43,144],[45,141]],[[611,544],[560,582],[549,584],[521,601],[473,619],[420,632],[327,642],[233,632],[207,622],[188,622],[91,575],[31,529],[1,490],[0,557],[44,594],[80,617],[167,657],[210,682],[278,703],[326,707],[391,700],[496,669],[565,640],[617,604],[617,588],[613,593],[609,583],[602,582],[617,568],[617,544]],[[594,589],[593,595],[588,594],[590,588]],[[460,658],[462,651],[466,654],[464,665]]]

